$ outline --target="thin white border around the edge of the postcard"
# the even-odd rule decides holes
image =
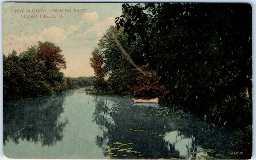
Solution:
[[[58,1],[58,0],[44,0],[44,1],[40,1],[40,0],[13,0],[13,1],[4,1],[4,0],[0,0],[1,2],[1,8],[0,8],[0,21],[1,21],[1,25],[0,25],[0,30],[1,30],[1,34],[0,34],[0,48],[1,50],[3,51],[3,3],[4,2],[55,2],[55,3],[60,3],[60,2],[71,2],[71,3],[75,3],[75,2],[97,2],[97,3],[132,3],[132,2],[135,2],[135,3],[147,3],[147,2],[157,2],[157,3],[160,3],[160,2],[177,2],[177,3],[182,3],[182,2],[189,2],[189,3],[248,3],[248,4],[251,4],[252,5],[252,77],[253,77],[253,81],[252,81],[252,92],[253,93],[256,93],[256,89],[255,89],[255,60],[253,59],[255,57],[255,46],[256,46],[256,41],[255,41],[255,30],[256,30],[256,23],[255,23],[255,20],[256,19],[256,0],[161,0],[161,1],[157,1],[157,0],[126,0],[126,1],[123,1],[123,0],[76,0],[76,1],[70,1],[70,0],[62,0],[62,1]],[[253,146],[252,146],[252,159],[253,160],[256,160],[256,156],[255,156],[255,143],[256,143],[256,140],[255,140],[255,132],[256,132],[256,129],[255,129],[255,122],[256,122],[256,119],[254,118],[255,116],[255,96],[253,94],[253,98],[252,98],[252,106],[253,106],[253,128],[252,128],[252,133],[253,133]],[[1,102],[1,105],[0,105],[0,160],[4,160],[6,158],[3,157],[3,53],[0,54],[0,102]],[[244,117],[246,118],[246,117]]]

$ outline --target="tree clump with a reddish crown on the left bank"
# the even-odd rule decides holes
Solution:
[[[39,46],[31,46],[19,56],[15,50],[7,57],[3,55],[4,101],[51,95],[66,89],[66,80],[59,71],[66,67],[66,62],[60,52],[60,47],[51,42],[39,42]]]

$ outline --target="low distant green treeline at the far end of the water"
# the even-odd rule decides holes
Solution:
[[[87,86],[93,86],[94,77],[67,77],[67,87],[68,88],[82,88]]]

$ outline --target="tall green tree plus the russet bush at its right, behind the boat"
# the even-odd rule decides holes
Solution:
[[[104,76],[108,78],[108,93],[118,95],[137,93],[135,95],[144,97],[163,96],[165,91],[159,85],[155,72],[150,70],[146,74],[140,68],[147,62],[144,53],[141,54],[141,38],[137,37],[129,44],[127,43],[128,36],[123,35],[123,32],[123,27],[120,27],[118,31],[114,27],[110,27],[98,44],[100,55],[104,58],[101,67],[107,69]],[[140,64],[140,66],[136,64]],[[145,66],[144,69],[148,69],[148,65]],[[157,82],[152,82],[152,80]]]

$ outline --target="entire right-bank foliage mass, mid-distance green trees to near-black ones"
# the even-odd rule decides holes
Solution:
[[[108,31],[99,43],[108,92],[154,97],[159,95],[152,90],[164,87],[165,102],[247,135],[252,125],[251,5],[123,4],[116,28],[135,64],[155,74],[157,87],[144,90],[149,77],[133,70]]]

